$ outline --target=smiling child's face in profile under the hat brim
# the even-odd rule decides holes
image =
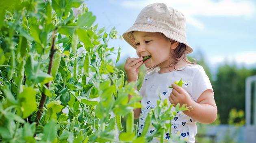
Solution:
[[[139,57],[152,56],[146,60],[147,68],[158,65],[160,68],[169,67],[169,55],[171,42],[169,38],[161,33],[134,32],[133,36],[136,43],[136,53]]]

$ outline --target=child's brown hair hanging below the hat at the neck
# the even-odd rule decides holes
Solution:
[[[163,34],[163,36],[165,38],[167,38],[164,34]],[[169,38],[167,38],[167,39],[169,39]],[[169,39],[169,41],[171,43],[176,42],[175,40],[172,40],[172,39]],[[171,66],[174,66],[174,69],[177,70],[175,68],[175,66],[178,63],[178,61],[180,61],[180,58],[184,59],[184,61],[186,61],[187,63],[190,63],[190,64],[197,63],[197,61],[195,59],[193,59],[194,60],[193,62],[189,61],[189,59],[186,56],[186,50],[187,50],[187,46],[186,46],[186,44],[183,44],[183,43],[179,43],[178,46],[174,50],[170,50],[170,57],[169,57],[170,65],[168,68],[169,71],[170,71]],[[148,73],[150,71],[155,71],[155,70],[159,70],[159,69],[160,69],[160,67],[158,67],[158,65],[156,65],[154,67],[148,68],[146,70],[146,72]]]

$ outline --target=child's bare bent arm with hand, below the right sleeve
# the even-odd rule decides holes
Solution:
[[[197,102],[191,100],[189,94],[182,87],[172,84],[173,90],[169,96],[169,101],[176,105],[187,104],[187,106],[192,106],[193,109],[190,111],[183,111],[184,114],[190,116],[192,119],[197,120],[200,123],[209,124],[216,120],[217,118],[217,106],[213,96],[213,90],[205,90]]]

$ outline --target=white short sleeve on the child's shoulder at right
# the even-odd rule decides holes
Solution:
[[[200,95],[207,89],[213,90],[213,87],[204,71],[204,68],[200,67],[195,69],[192,80],[192,97],[195,99],[195,101],[197,101]]]

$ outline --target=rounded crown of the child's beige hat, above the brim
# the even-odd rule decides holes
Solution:
[[[142,19],[144,19],[144,21],[146,20],[145,22],[148,22],[148,24],[151,25],[157,25],[157,23],[152,22],[151,19],[162,21],[169,24],[169,26],[174,26],[186,32],[185,16],[180,11],[168,7],[164,3],[154,3],[143,8],[139,13],[135,23],[141,23]],[[169,26],[167,25],[165,28],[169,29]]]

